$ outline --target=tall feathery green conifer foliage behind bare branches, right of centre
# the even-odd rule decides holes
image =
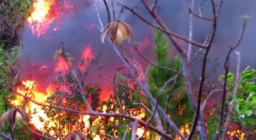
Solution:
[[[177,71],[181,70],[182,62],[178,56],[168,58],[169,43],[163,36],[162,32],[157,31],[154,39],[154,49],[156,53],[155,63]],[[170,84],[163,89],[163,93],[159,94],[159,90],[161,87],[163,87],[164,83],[170,78],[173,78],[175,75],[176,73],[170,72],[169,70],[152,66],[149,68],[148,72],[149,87],[153,96],[158,96],[159,105],[169,112],[169,115],[177,126],[182,126],[191,121],[193,117],[193,115],[191,115],[193,114],[193,110],[190,107],[189,99],[187,97],[186,90],[184,89],[183,78],[178,76],[175,82],[170,82]],[[175,84],[173,86],[173,90],[170,91],[173,84]],[[168,97],[169,101],[167,101]]]

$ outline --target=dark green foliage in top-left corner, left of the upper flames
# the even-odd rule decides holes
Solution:
[[[18,31],[28,17],[32,0],[2,0],[0,6],[0,44],[19,44]]]

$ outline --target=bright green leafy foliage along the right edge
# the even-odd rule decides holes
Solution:
[[[219,81],[224,81],[225,76],[220,75]],[[231,121],[238,124],[247,133],[256,129],[256,84],[255,84],[255,69],[246,67],[240,73],[239,88],[237,96],[233,97],[233,90],[235,87],[235,76],[229,72],[227,79],[226,89],[228,90],[227,100],[225,102],[225,108],[231,104],[231,100],[234,98],[236,102],[233,102],[234,112],[231,116]],[[226,115],[226,114],[225,114]],[[217,117],[211,118],[211,120],[217,120]],[[216,128],[216,127],[215,127]]]

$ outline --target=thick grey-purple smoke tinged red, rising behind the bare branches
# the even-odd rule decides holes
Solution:
[[[57,1],[58,5],[63,8],[63,4],[59,4],[61,1]],[[107,76],[108,78],[113,78],[116,68],[121,67],[117,56],[112,52],[112,49],[109,44],[102,44],[99,41],[100,31],[98,29],[98,19],[96,17],[96,12],[93,7],[93,1],[73,1],[66,0],[62,2],[67,2],[67,4],[73,5],[72,9],[67,11],[58,10],[57,19],[54,20],[49,25],[49,29],[47,30],[44,36],[37,37],[37,35],[33,34],[31,28],[26,25],[23,29],[21,36],[23,41],[23,73],[22,76],[27,79],[36,79],[40,81],[42,85],[48,85],[52,79],[57,75],[54,72],[57,61],[54,61],[54,53],[56,50],[60,49],[61,44],[63,42],[66,44],[67,49],[66,52],[69,52],[73,58],[72,66],[78,67],[80,63],[81,56],[83,55],[83,51],[87,46],[91,46],[92,50],[95,53],[98,53],[101,50],[104,50],[101,59],[99,60],[99,64],[94,65],[87,76],[87,83],[95,83],[99,84],[103,91],[104,97],[108,97],[111,89],[113,88],[113,84],[105,79],[102,79],[98,76],[97,73],[101,73],[101,75]],[[140,1],[137,0],[122,0],[117,1],[130,7],[136,7],[136,10],[148,19],[151,22],[154,22],[154,19],[147,13],[145,7],[142,5]],[[187,35],[188,27],[189,27],[189,12],[186,7],[186,1],[159,1],[157,7],[157,11],[163,17],[164,21],[168,23],[168,26],[173,31]],[[216,41],[214,41],[213,49],[211,50],[211,59],[218,58],[220,61],[220,66],[218,70],[218,74],[222,73],[223,69],[223,59],[228,51],[229,46],[236,43],[236,40],[239,38],[241,29],[242,29],[242,19],[241,16],[244,14],[248,14],[252,16],[253,19],[249,20],[248,26],[246,27],[245,38],[242,44],[239,46],[237,50],[242,53],[242,67],[246,67],[246,65],[251,65],[252,67],[256,67],[255,62],[255,51],[256,51],[256,10],[254,5],[256,5],[256,1],[247,0],[233,0],[233,1],[225,1],[223,5],[222,13],[220,14],[219,25],[217,27],[217,35]],[[107,13],[105,11],[105,7],[102,1],[99,1],[99,12],[102,17],[102,21],[104,24],[107,23]],[[196,13],[198,13],[199,4],[196,4]],[[60,9],[61,9],[60,8]],[[203,11],[205,16],[210,17],[211,7],[210,3],[205,3],[205,8]],[[136,16],[131,14],[129,11],[125,11],[125,13],[120,13],[120,7],[116,6],[116,18],[120,20],[125,20],[125,22],[129,23],[131,27],[134,29],[134,41],[142,42],[142,47],[140,47],[140,51],[143,55],[148,59],[154,58],[154,52],[152,51],[152,46],[154,45],[154,41],[152,40],[152,35],[154,35],[154,29],[143,23],[141,20],[137,19]],[[210,29],[211,23],[205,22],[201,19],[195,19],[195,35],[194,39],[196,41],[202,42],[204,41],[205,35],[208,33],[208,29]],[[186,45],[185,43],[183,43]],[[172,45],[171,45],[172,46]],[[148,66],[138,55],[134,52],[134,44],[125,44],[125,50],[130,56],[130,58],[135,59],[136,62],[142,65],[144,70]],[[176,50],[172,47],[172,53],[175,53]],[[193,50],[196,52],[196,49]],[[235,55],[232,55],[233,57]],[[236,59],[232,60],[232,67],[234,67],[234,62]],[[33,66],[31,66],[31,62],[33,62]],[[39,70],[42,65],[47,65],[47,68],[43,68]],[[98,71],[98,68],[102,68],[101,71]]]

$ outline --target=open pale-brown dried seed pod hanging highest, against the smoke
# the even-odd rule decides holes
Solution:
[[[108,23],[101,33],[101,42],[104,43],[105,37],[108,35],[114,44],[122,44],[124,40],[131,42],[133,39],[133,29],[119,20]]]

